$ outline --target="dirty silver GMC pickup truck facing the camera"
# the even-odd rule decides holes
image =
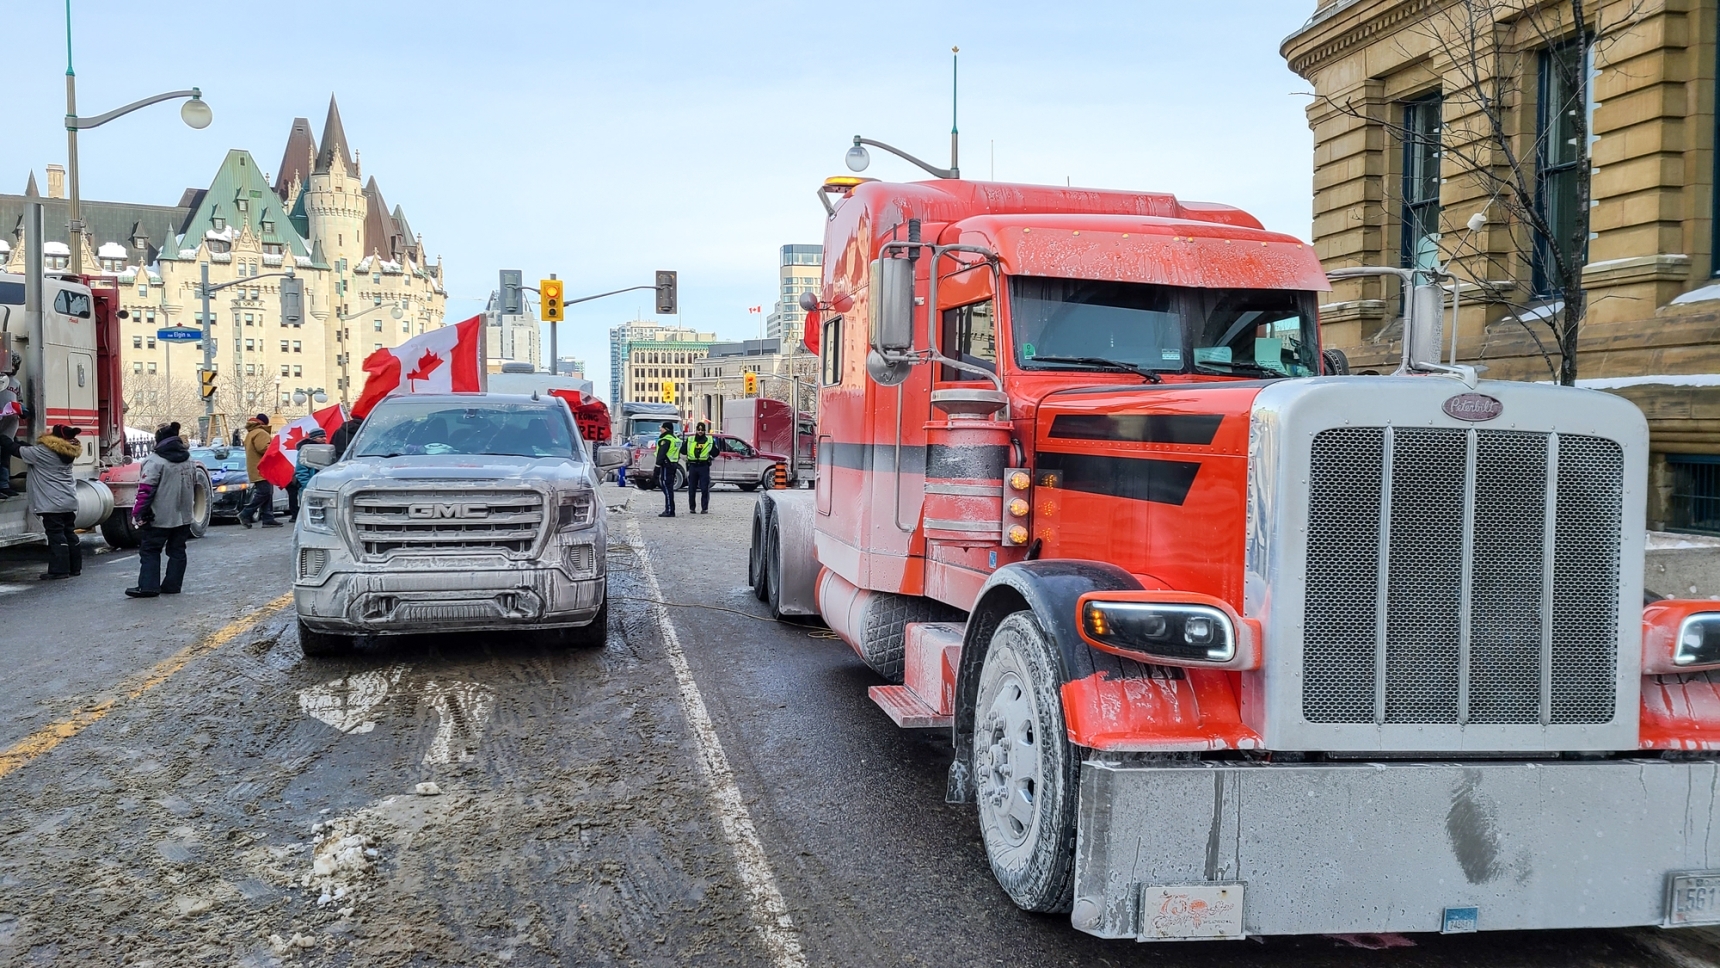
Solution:
[[[604,643],[597,481],[624,452],[588,456],[559,399],[389,397],[341,463],[329,445],[304,445],[299,459],[323,466],[299,495],[292,535],[304,655],[337,655],[363,634],[531,631]]]

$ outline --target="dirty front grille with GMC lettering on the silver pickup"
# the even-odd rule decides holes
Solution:
[[[535,490],[363,490],[353,497],[353,535],[365,555],[525,555],[542,533],[544,495]]]

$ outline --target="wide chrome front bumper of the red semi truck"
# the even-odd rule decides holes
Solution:
[[[1717,784],[1720,762],[1089,762],[1072,923],[1139,940],[1708,923]]]

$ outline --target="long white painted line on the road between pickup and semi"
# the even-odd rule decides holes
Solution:
[[[705,769],[705,781],[710,784],[710,800],[717,808],[717,820],[722,822],[722,836],[734,851],[734,865],[740,868],[746,885],[748,913],[753,930],[771,953],[776,968],[805,968],[807,956],[800,951],[800,934],[795,920],[788,916],[788,903],[776,885],[776,873],[771,872],[771,858],[764,853],[759,830],[753,829],[752,813],[741,800],[741,787],[734,784],[734,770],[717,739],[717,727],[710,722],[705,708],[705,696],[698,693],[693,671],[686,665],[686,653],[681,652],[681,640],[674,634],[674,622],[669,621],[669,609],[662,602],[662,588],[657,585],[657,571],[650,566],[650,552],[645,538],[640,536],[640,523],[628,521],[628,542],[638,554],[640,571],[650,586],[652,617],[662,629],[664,652],[669,653],[669,665],[674,667],[674,681],[681,688],[681,712],[693,727],[693,739],[698,741],[698,762]]]

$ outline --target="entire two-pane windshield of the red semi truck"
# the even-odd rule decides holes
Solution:
[[[1084,279],[1010,279],[1010,328],[1023,370],[1312,377],[1314,306],[1283,289],[1182,289]]]

